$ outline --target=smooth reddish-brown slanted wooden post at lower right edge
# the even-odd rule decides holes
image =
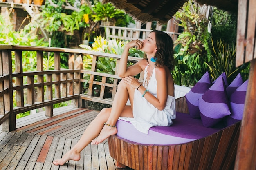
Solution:
[[[256,168],[256,59],[252,60],[235,170]]]

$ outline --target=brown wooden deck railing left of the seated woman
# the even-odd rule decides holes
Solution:
[[[24,51],[36,53],[34,70],[23,71]],[[54,55],[54,70],[43,67],[43,58]],[[68,56],[68,69],[61,68],[61,55]],[[91,69],[85,70],[84,56],[91,57]],[[115,74],[97,71],[100,57],[116,60]],[[14,60],[13,60],[14,59]],[[45,108],[46,116],[53,116],[53,105],[74,101],[76,107],[83,107],[83,100],[112,104],[120,77],[117,76],[120,55],[99,53],[80,49],[7,46],[0,45],[0,124],[3,131],[16,129],[16,115],[29,110]],[[139,58],[128,57],[130,62]],[[89,75],[90,79],[83,79]],[[143,75],[143,74],[141,74]],[[88,76],[87,76],[88,77]],[[112,81],[107,81],[111,79]],[[140,79],[143,79],[141,76]],[[88,92],[83,84],[89,84]],[[106,96],[106,88],[111,97]],[[96,92],[97,91],[97,92]]]

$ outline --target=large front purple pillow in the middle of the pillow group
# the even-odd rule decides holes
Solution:
[[[223,78],[219,78],[207,92],[199,98],[199,113],[203,126],[213,127],[230,115],[229,101]]]

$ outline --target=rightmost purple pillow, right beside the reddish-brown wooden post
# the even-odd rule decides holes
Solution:
[[[239,86],[229,97],[231,114],[226,117],[227,126],[234,124],[243,118],[247,85],[248,80]]]

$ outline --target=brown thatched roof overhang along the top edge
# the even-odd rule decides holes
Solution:
[[[103,0],[112,2],[141,21],[167,22],[187,0]],[[216,6],[226,11],[237,12],[238,0],[196,0],[199,4]]]

